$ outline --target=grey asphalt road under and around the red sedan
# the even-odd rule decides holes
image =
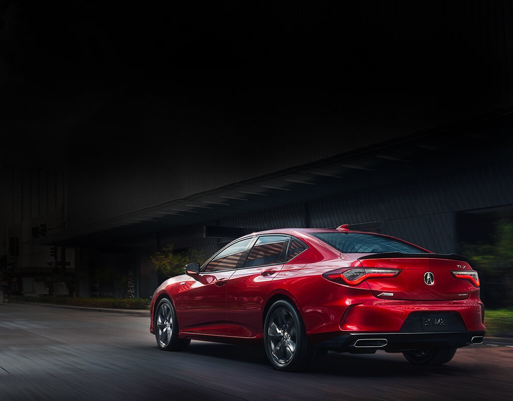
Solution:
[[[273,370],[259,347],[192,341],[157,349],[149,317],[0,304],[0,401],[511,400],[513,341],[458,350],[442,367],[401,354],[334,354],[312,372]],[[512,339],[513,340],[513,339]],[[509,347],[508,347],[509,346]]]

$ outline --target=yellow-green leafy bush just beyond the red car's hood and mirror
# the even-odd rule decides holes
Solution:
[[[164,246],[162,251],[150,257],[155,271],[164,277],[173,277],[184,274],[184,266],[188,263],[205,262],[205,253],[189,249],[186,252],[173,253],[173,244]]]

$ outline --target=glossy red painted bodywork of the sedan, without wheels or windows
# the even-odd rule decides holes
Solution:
[[[371,233],[359,234],[391,238],[415,246],[415,252],[420,252],[422,257],[408,253],[408,257],[384,258],[378,253],[376,258],[369,258],[376,252],[341,253],[311,233],[345,235],[346,231],[289,228],[244,237],[256,241],[260,236],[284,235],[299,239],[307,249],[275,264],[238,266],[165,281],[151,301],[150,331],[153,333],[155,303],[162,297],[173,303],[180,338],[221,342],[260,339],[267,309],[279,298],[287,298],[295,304],[312,344],[347,333],[400,333],[413,312],[453,312],[467,331],[485,330],[478,282],[451,273],[472,271],[467,262],[439,258],[407,242]],[[250,250],[251,246],[244,258]],[[359,259],[361,257],[366,258]],[[344,272],[356,268],[400,272],[393,277],[370,275],[353,285],[322,276],[337,269]]]

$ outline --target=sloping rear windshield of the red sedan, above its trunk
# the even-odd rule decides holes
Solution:
[[[401,240],[374,234],[309,233],[344,254],[377,254],[384,252],[425,253],[417,246]]]

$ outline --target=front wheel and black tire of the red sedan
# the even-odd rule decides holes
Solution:
[[[184,351],[191,342],[178,337],[176,313],[168,298],[162,298],[155,308],[153,330],[157,346],[163,351]]]

